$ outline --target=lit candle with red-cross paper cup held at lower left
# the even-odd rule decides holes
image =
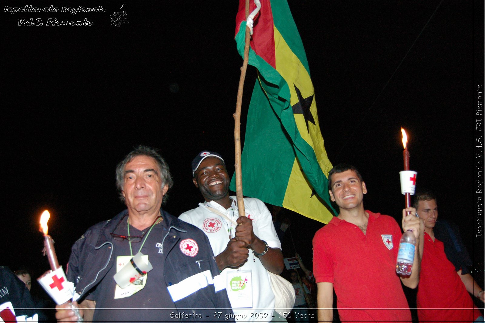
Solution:
[[[54,249],[54,241],[48,235],[48,225],[50,214],[45,210],[40,217],[40,231],[44,233],[44,255],[49,259],[50,270],[44,272],[42,276],[37,278],[40,286],[46,290],[49,296],[56,302],[57,305],[64,304],[72,299],[74,293],[74,284],[67,281],[62,266],[57,260],[56,251]],[[78,317],[77,322],[82,322],[79,308],[69,302],[71,309]]]

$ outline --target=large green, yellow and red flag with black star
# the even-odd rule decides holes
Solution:
[[[287,1],[260,2],[249,50],[258,79],[242,151],[243,195],[328,223],[337,214],[327,186],[332,164],[320,132],[307,55]],[[251,0],[249,12],[255,7]],[[245,17],[245,1],[240,0],[235,39],[241,56]]]

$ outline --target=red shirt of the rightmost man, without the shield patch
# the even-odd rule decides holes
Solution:
[[[433,242],[427,233],[424,233],[416,303],[421,322],[472,322],[482,315],[455,267],[446,258],[443,242],[436,238]]]

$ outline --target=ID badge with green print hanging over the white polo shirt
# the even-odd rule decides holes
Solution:
[[[251,270],[227,272],[227,296],[234,308],[253,307],[253,277]]]

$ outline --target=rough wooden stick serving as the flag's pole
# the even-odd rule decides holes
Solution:
[[[246,0],[246,20],[249,16],[249,0]],[[246,26],[246,37],[244,40],[244,60],[241,67],[241,76],[239,78],[238,97],[236,101],[236,112],[234,117],[234,144],[236,149],[236,158],[234,166],[236,168],[236,198],[238,201],[238,211],[240,217],[245,217],[244,200],[242,195],[242,168],[241,168],[241,106],[242,106],[242,89],[244,79],[246,78],[247,62],[249,60],[249,42],[251,34],[249,27]]]

